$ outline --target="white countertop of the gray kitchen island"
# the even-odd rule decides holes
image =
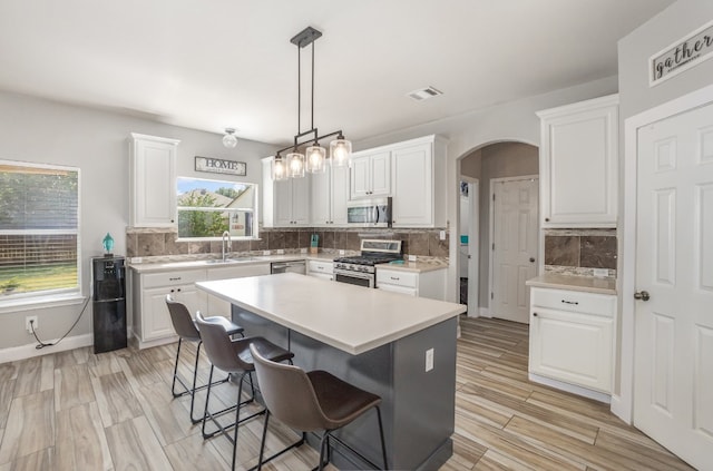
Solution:
[[[296,273],[198,282],[196,286],[352,355],[466,312],[462,304],[334,283]]]

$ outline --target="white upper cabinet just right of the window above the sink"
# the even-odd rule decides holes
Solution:
[[[271,167],[272,157],[263,159],[263,225],[310,225],[310,177],[273,181]]]

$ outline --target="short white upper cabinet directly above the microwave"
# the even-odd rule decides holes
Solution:
[[[365,150],[351,158],[351,198],[391,196],[391,151]]]

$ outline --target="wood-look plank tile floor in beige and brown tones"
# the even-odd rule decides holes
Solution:
[[[691,469],[607,405],[529,382],[526,325],[462,318],[461,327],[455,453],[442,470]],[[189,398],[170,394],[175,349],[87,347],[0,364],[0,471],[229,469],[227,440],[204,441]],[[182,357],[185,377],[193,365]],[[207,372],[204,360],[199,381]],[[229,383],[216,389],[225,404],[235,394]],[[255,463],[261,432],[261,419],[241,428],[238,469]],[[277,426],[268,436],[270,451],[296,435]],[[316,460],[301,447],[265,469],[309,470]]]

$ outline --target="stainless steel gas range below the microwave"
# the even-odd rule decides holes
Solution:
[[[334,258],[334,281],[375,287],[375,265],[402,258],[401,243],[401,241],[362,239],[360,255]]]

